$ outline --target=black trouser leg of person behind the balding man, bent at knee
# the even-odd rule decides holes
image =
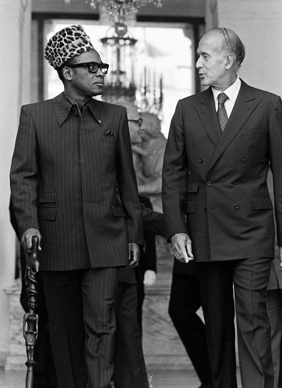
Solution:
[[[206,327],[196,311],[201,306],[197,276],[173,274],[169,315],[201,383],[211,383]]]

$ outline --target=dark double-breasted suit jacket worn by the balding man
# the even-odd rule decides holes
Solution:
[[[282,244],[281,113],[280,97],[243,81],[223,133],[211,88],[178,102],[163,164],[163,212],[168,238],[189,234],[194,261],[274,257],[269,162]]]

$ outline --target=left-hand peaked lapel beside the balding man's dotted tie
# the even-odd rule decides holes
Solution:
[[[202,99],[195,103],[194,107],[198,112],[199,118],[206,133],[208,134],[208,137],[211,139],[213,144],[217,146],[222,132],[218,123],[217,112],[215,111],[215,102],[211,87],[203,93]]]

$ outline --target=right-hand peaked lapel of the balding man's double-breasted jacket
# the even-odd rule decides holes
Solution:
[[[237,135],[244,123],[248,120],[249,116],[253,113],[255,107],[259,104],[260,99],[256,99],[251,92],[251,88],[241,80],[241,88],[237,96],[236,102],[230,114],[229,120],[225,126],[225,129],[218,141],[217,148],[213,154],[210,168],[220,158],[222,153],[228,147],[230,142]]]

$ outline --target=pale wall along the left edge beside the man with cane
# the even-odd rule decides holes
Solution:
[[[2,290],[14,283],[15,274],[15,234],[9,218],[9,171],[19,109],[29,102],[30,1],[2,2],[0,20],[2,47],[5,47],[0,61],[0,352],[5,352],[9,308]]]

